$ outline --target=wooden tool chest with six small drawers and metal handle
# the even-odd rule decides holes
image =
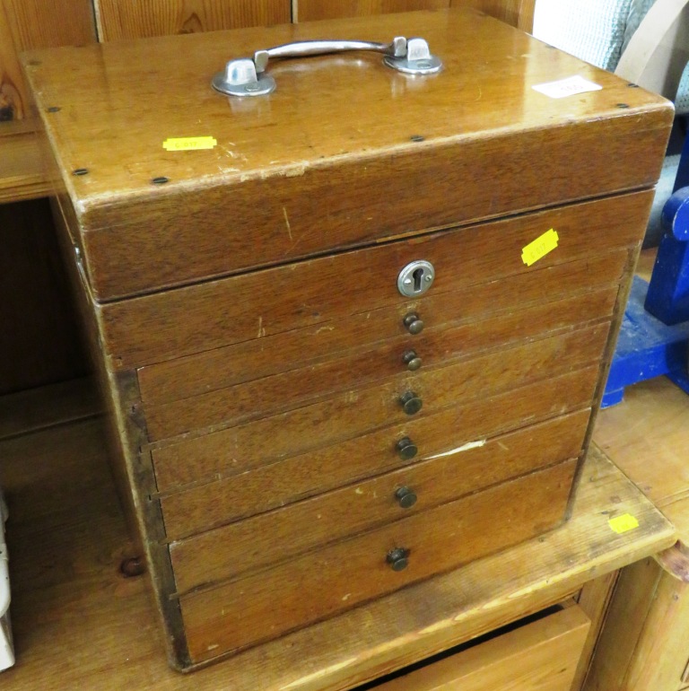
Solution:
[[[211,88],[262,48],[402,36],[442,70],[273,56],[275,92]],[[667,101],[460,10],[25,69],[172,664],[566,519]],[[572,77],[595,90],[532,88]]]

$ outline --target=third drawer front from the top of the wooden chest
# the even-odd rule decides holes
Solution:
[[[262,431],[253,443],[244,428],[230,428],[155,449],[158,489],[164,492],[170,485],[209,481],[256,468],[288,454],[322,448],[381,427],[408,424],[411,418],[421,419],[598,364],[608,330],[608,324],[601,324],[347,392],[322,405],[260,421],[250,428],[253,433]],[[400,406],[400,396],[406,391],[414,391],[423,401],[416,415],[406,415]],[[245,441],[250,447],[242,445]]]

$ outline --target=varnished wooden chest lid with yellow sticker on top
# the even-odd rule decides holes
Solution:
[[[295,41],[419,36],[440,72],[366,50],[268,54],[260,69],[261,49]],[[212,88],[255,54],[274,92]],[[100,301],[650,187],[673,115],[473,10],[54,48],[24,65]],[[533,88],[571,77],[601,88]]]

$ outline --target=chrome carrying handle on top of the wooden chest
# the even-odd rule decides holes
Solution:
[[[406,39],[397,36],[389,43],[366,40],[302,40],[283,46],[257,50],[254,57],[231,60],[225,71],[215,74],[213,88],[229,96],[263,96],[275,91],[275,79],[266,74],[271,57],[306,57],[343,53],[350,50],[371,50],[383,54],[383,62],[398,72],[406,74],[433,74],[440,72],[442,62],[431,55],[428,43],[423,39]]]

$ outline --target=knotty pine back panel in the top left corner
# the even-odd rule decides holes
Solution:
[[[23,50],[95,38],[91,0],[0,0],[0,120],[25,118],[28,112],[17,59]]]

